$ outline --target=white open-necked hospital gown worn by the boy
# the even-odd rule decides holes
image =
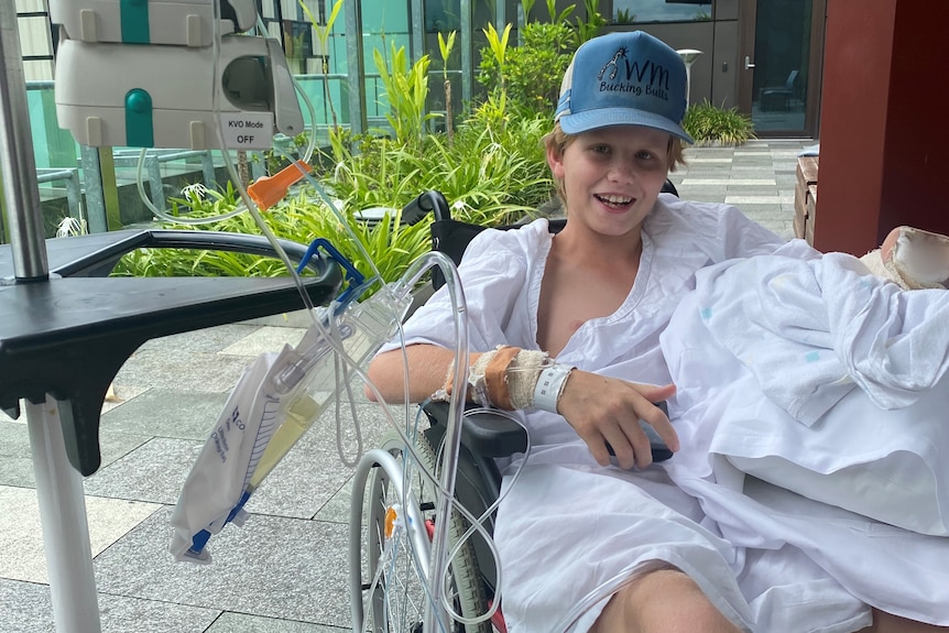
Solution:
[[[501,343],[537,349],[550,243],[545,220],[516,231],[486,231],[471,243],[460,273],[468,305],[478,306],[468,312],[472,351]],[[733,207],[661,196],[644,225],[630,295],[613,315],[580,327],[558,361],[626,380],[670,382],[659,334],[695,287],[695,272],[781,244]],[[444,290],[405,325],[407,343],[454,348],[454,331]],[[512,633],[586,631],[622,582],[668,564],[688,572],[745,631],[844,632],[870,623],[869,608],[796,548],[745,552],[722,539],[700,503],[661,467],[600,467],[563,417],[521,415],[533,447],[515,485],[510,476],[519,463],[505,471],[495,528]]]

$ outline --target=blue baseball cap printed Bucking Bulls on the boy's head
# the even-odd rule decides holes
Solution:
[[[642,31],[585,42],[560,84],[554,121],[568,134],[608,125],[655,128],[691,143],[686,114],[686,65],[673,48]]]

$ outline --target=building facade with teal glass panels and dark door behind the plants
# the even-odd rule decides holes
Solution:
[[[553,0],[552,0],[553,1]],[[473,77],[486,45],[482,29],[523,24],[521,0],[257,0],[270,35],[279,37],[291,68],[316,108],[317,123],[357,128],[384,122],[373,51],[388,57],[405,46],[412,59],[428,54],[433,83],[441,85],[438,34],[458,33],[448,61],[456,109],[477,96]],[[45,86],[54,75],[57,29],[48,0],[15,0],[28,81]],[[533,2],[528,19],[549,20],[549,2]],[[604,31],[642,29],[689,55],[691,102],[708,100],[752,117],[760,137],[818,135],[822,37],[827,0],[556,0],[570,21],[588,9]],[[313,20],[316,21],[314,24]],[[328,22],[331,22],[328,24]],[[347,37],[350,32],[359,37]],[[356,66],[356,73],[350,68]],[[356,79],[361,77],[362,80]],[[440,90],[432,90],[437,95]],[[439,109],[440,103],[433,103]],[[440,106],[444,107],[444,106]]]

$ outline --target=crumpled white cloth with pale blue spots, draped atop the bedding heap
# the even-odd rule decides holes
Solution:
[[[702,320],[777,405],[810,425],[854,386],[913,404],[949,369],[949,294],[901,292],[855,258],[778,255],[696,274]]]

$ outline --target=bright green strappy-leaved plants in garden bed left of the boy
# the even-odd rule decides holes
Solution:
[[[423,64],[427,58],[411,69],[393,64],[385,79],[392,90],[413,88],[411,94],[390,101],[393,129],[400,131],[396,138],[332,132],[331,150],[316,161],[326,165],[315,176],[321,190],[304,184],[295,195],[263,214],[276,237],[299,243],[326,238],[371,277],[374,271],[368,253],[382,280],[390,282],[402,276],[430,248],[430,217],[414,226],[400,222],[401,209],[419,193],[438,189],[452,204],[452,217],[489,226],[519,220],[550,198],[553,187],[542,143],[549,129],[549,114],[514,117],[503,105],[489,114],[482,108],[462,122],[451,139],[446,134],[423,137],[417,133],[421,109],[415,106],[425,97],[426,84],[415,80],[422,75]],[[330,196],[338,201],[339,216],[325,200]],[[172,200],[172,214],[192,219],[216,217],[237,205],[231,186],[223,192],[192,189]],[[367,222],[357,216],[370,207],[392,209],[392,215],[379,222]],[[201,228],[260,233],[249,214]],[[273,276],[286,271],[280,261],[269,258],[153,249],[123,258],[116,274]]]

